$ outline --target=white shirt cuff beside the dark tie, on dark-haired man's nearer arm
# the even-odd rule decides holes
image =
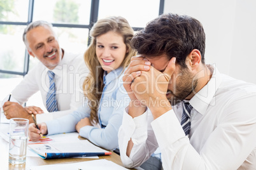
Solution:
[[[155,119],[151,125],[161,148],[185,137],[173,109]]]

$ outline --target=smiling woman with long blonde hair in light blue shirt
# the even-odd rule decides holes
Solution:
[[[109,150],[118,147],[118,129],[129,96],[122,86],[122,74],[136,51],[130,41],[134,32],[125,18],[98,20],[90,30],[91,42],[85,52],[90,74],[83,83],[86,102],[72,114],[29,127],[29,138],[42,134],[78,131],[80,136]]]

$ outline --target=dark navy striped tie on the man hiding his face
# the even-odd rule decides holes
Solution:
[[[190,126],[191,126],[191,120],[190,120],[190,112],[192,110],[192,106],[188,103],[188,101],[183,101],[183,114],[181,117],[181,126],[183,128],[183,131],[185,132],[185,135],[190,134]]]

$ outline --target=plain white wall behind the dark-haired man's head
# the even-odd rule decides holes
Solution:
[[[206,63],[256,84],[255,0],[166,0],[164,7],[164,13],[189,15],[203,24]]]

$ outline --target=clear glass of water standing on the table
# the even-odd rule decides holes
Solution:
[[[9,163],[25,164],[29,120],[10,119]]]

